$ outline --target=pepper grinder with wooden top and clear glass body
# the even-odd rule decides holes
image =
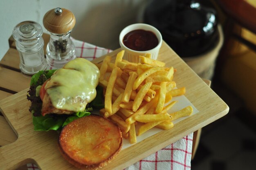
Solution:
[[[45,13],[43,25],[50,34],[46,47],[46,61],[51,68],[61,68],[76,58],[70,33],[76,23],[74,14],[64,8],[55,8]]]

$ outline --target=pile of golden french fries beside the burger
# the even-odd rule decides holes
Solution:
[[[171,111],[177,103],[171,101],[173,97],[186,92],[185,87],[175,88],[176,69],[151,59],[151,54],[139,56],[141,63],[131,63],[123,56],[124,50],[114,63],[106,56],[97,67],[101,73],[99,85],[105,92],[105,108],[100,114],[115,122],[125,139],[136,143],[136,136],[151,128],[171,129],[173,120],[193,113],[191,106]]]

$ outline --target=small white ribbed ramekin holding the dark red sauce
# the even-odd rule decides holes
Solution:
[[[132,50],[132,49],[129,49],[128,47],[126,47],[123,43],[124,36],[127,33],[129,33],[130,31],[133,31],[136,29],[144,29],[146,31],[151,31],[151,32],[155,33],[155,35],[157,36],[157,39],[158,39],[158,45],[155,48],[150,49],[148,51],[135,51],[135,50]],[[121,49],[124,49],[124,51],[125,51],[124,59],[126,59],[130,62],[139,63],[140,62],[139,56],[145,56],[147,53],[151,54],[151,58],[156,60],[157,56],[158,56],[159,49],[162,46],[162,35],[155,27],[153,27],[151,25],[141,24],[141,23],[132,24],[132,25],[125,27],[121,31],[121,33],[119,35],[119,44],[121,46]]]

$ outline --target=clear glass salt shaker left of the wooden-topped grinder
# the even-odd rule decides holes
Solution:
[[[43,51],[43,28],[37,22],[20,22],[13,29],[13,38],[20,55],[20,71],[33,75],[45,70],[47,64]]]

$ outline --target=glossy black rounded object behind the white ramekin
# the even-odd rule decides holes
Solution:
[[[208,0],[152,0],[144,22],[156,27],[181,57],[202,54],[218,42],[217,13]]]

